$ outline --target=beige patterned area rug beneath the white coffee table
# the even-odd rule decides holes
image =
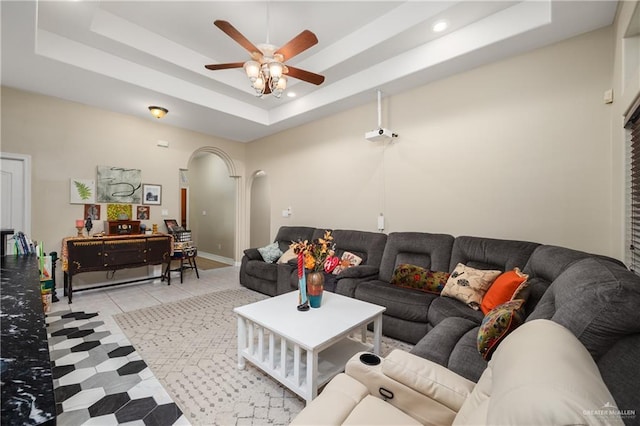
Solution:
[[[115,315],[193,425],[286,425],[304,401],[247,363],[237,368],[233,308],[268,296],[240,288]],[[383,337],[382,353],[410,345]]]

